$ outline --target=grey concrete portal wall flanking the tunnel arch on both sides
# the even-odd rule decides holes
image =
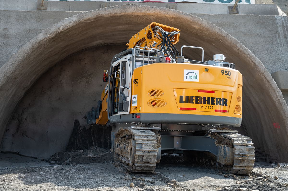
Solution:
[[[39,32],[79,12],[0,10],[0,66]],[[193,14],[222,28],[247,47],[269,73],[288,70],[288,17]]]

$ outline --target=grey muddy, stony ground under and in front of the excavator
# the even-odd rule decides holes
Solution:
[[[1,154],[0,190],[288,190],[288,166],[257,162],[251,175],[234,176],[184,164],[181,157],[171,164],[166,162],[169,157],[162,155],[163,162],[157,165],[155,173],[128,173],[121,166],[115,167],[113,161],[50,165],[46,161]]]

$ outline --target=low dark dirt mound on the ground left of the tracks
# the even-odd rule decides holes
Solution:
[[[55,153],[48,159],[50,164],[69,165],[69,164],[90,164],[103,163],[113,160],[113,153],[107,148],[93,146],[77,151],[67,151],[64,153]]]

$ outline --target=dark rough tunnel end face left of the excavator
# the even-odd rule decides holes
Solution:
[[[74,119],[78,119],[81,126],[87,127],[82,117],[91,107],[97,106],[106,86],[102,80],[103,70],[110,67],[113,55],[124,48],[110,45],[79,52],[43,74],[14,111],[5,131],[2,151],[40,158],[64,152]],[[90,129],[87,131],[91,132]],[[99,134],[97,132],[95,128],[95,136]],[[88,146],[93,146],[91,144]],[[95,146],[108,147],[97,142]],[[68,149],[85,148],[69,145]]]

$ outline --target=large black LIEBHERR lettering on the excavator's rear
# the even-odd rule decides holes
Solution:
[[[179,96],[179,103],[194,103],[194,104],[205,104],[205,105],[227,105],[228,100],[226,98],[218,97],[201,97],[201,96]]]

